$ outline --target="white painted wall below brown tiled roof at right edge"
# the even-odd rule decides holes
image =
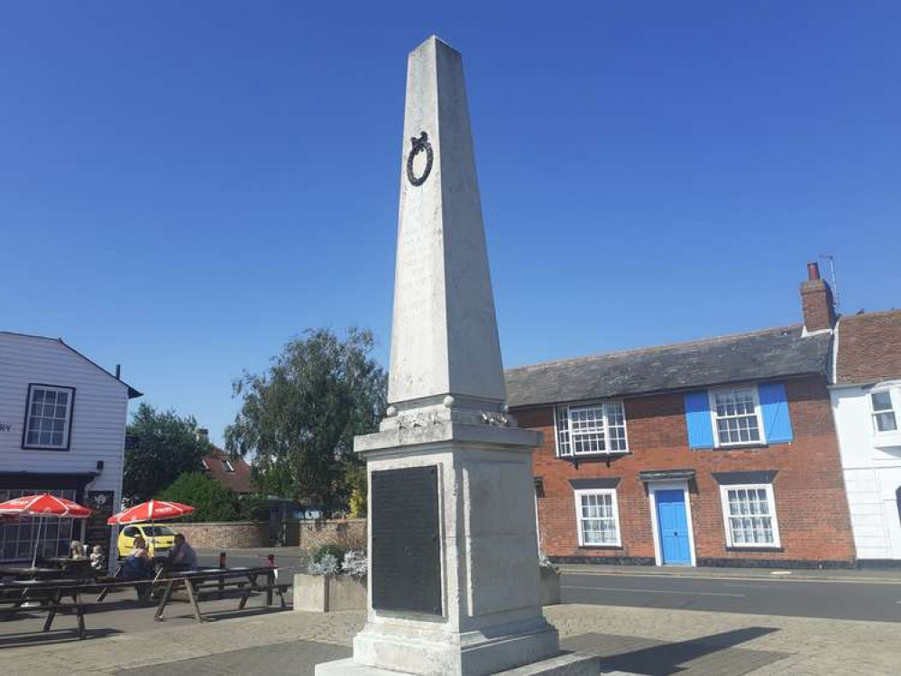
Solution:
[[[858,559],[901,559],[901,434],[874,432],[868,386],[830,390]]]

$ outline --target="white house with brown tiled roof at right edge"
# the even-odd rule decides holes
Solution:
[[[842,317],[832,412],[862,565],[901,565],[901,311]]]

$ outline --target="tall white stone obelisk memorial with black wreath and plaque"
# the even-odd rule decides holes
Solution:
[[[355,450],[369,476],[369,603],[334,674],[568,674],[538,603],[531,453],[507,414],[459,52],[409,54],[390,407]]]

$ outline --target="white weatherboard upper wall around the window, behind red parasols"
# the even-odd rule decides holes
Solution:
[[[23,450],[29,383],[75,388],[69,451]],[[54,339],[0,333],[0,471],[87,473],[104,461],[88,489],[115,491],[116,509],[127,416],[128,386],[78,352]]]

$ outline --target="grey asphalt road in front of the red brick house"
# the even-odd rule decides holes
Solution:
[[[901,622],[901,584],[565,572],[564,603]]]

